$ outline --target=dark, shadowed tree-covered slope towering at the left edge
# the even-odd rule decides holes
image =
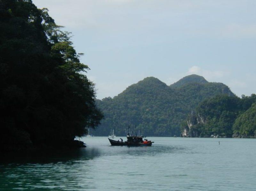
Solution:
[[[69,33],[31,0],[0,1],[1,145],[82,136],[102,114]]]

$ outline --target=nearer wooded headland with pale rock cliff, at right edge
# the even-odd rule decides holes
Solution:
[[[205,99],[188,118],[187,136],[255,136],[255,103],[255,94]]]

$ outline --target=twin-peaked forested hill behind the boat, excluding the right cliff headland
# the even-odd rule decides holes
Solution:
[[[93,134],[107,136],[114,129],[116,135],[124,136],[130,125],[134,133],[140,130],[145,136],[179,136],[180,123],[203,99],[218,94],[234,96],[225,84],[207,82],[197,75],[183,79],[182,84],[170,87],[146,77],[113,99],[96,100],[105,119]]]

